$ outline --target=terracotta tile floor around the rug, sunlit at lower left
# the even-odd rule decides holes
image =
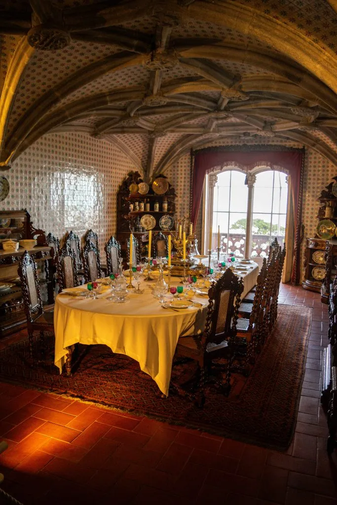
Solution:
[[[298,423],[287,451],[0,383],[0,437],[9,444],[0,457],[3,488],[25,505],[337,504],[337,453],[327,457],[319,403],[327,306],[300,287],[282,286],[279,301],[313,307]]]

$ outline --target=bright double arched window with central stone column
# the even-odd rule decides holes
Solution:
[[[288,194],[286,174],[264,167],[256,167],[251,171],[251,204],[246,177],[246,172],[234,167],[206,176],[206,252],[211,227],[212,249],[218,245],[218,226],[221,252],[233,252],[237,257],[262,259],[268,254],[269,244],[274,237],[279,243],[284,241]],[[246,247],[247,217],[250,214],[252,226]]]

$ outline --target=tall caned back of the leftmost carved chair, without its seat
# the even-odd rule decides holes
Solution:
[[[42,300],[37,281],[36,263],[29,255],[28,251],[24,252],[20,261],[18,274],[21,280],[21,289],[25,313],[29,322],[33,321],[33,315],[43,313]]]

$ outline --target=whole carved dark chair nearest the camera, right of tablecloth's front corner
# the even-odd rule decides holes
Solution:
[[[197,405],[205,402],[205,382],[209,379],[212,361],[226,358],[225,380],[218,382],[221,392],[228,395],[230,391],[230,369],[235,357],[236,322],[238,306],[244,284],[230,269],[213,283],[208,291],[209,305],[205,329],[201,335],[180,337],[176,347],[176,357],[190,358],[198,362],[199,381],[197,395],[186,392],[183,385],[173,387],[185,396],[197,399]],[[234,304],[235,301],[235,304]]]

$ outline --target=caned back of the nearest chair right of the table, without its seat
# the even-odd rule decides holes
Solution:
[[[230,269],[209,289],[209,306],[202,336],[204,345],[235,338],[238,307],[243,290],[243,280],[238,279]]]

